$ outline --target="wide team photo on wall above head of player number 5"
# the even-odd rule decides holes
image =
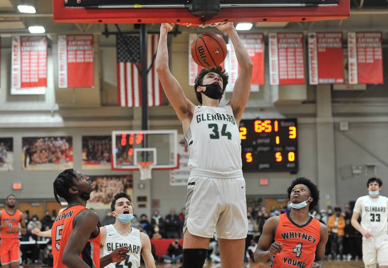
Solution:
[[[72,137],[23,137],[22,170],[73,168]]]

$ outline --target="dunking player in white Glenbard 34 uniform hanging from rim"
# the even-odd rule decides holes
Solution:
[[[221,67],[202,69],[194,86],[201,106],[195,106],[169,70],[167,33],[173,27],[161,26],[156,69],[190,150],[182,267],[203,267],[214,230],[222,267],[242,267],[248,221],[238,126],[250,93],[253,64],[233,23],[216,26],[233,43],[240,75],[231,100],[218,107],[228,76]]]

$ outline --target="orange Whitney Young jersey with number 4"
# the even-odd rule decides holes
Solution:
[[[276,254],[273,268],[309,268],[320,239],[319,221],[310,217],[305,225],[298,225],[289,213],[280,214],[275,240],[283,244],[283,251]]]

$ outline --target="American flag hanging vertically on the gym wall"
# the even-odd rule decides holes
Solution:
[[[147,66],[152,63],[159,42],[158,34],[147,36]],[[138,35],[117,35],[117,96],[122,107],[139,107],[142,105],[142,85],[139,69],[140,64],[140,38]],[[154,66],[147,75],[148,106],[162,104],[162,85]]]

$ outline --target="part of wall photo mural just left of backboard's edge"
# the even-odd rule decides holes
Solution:
[[[111,169],[112,136],[82,136],[82,169]]]

